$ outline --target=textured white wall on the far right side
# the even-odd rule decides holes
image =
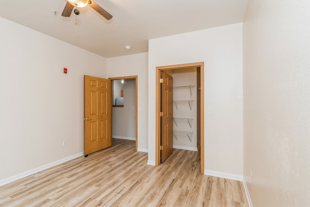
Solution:
[[[255,207],[310,206],[309,11],[309,0],[248,1],[244,175]]]

